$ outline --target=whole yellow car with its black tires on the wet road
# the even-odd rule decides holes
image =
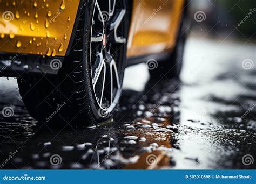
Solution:
[[[178,77],[185,0],[0,0],[0,76],[17,77],[31,116],[110,118],[127,66]],[[136,81],[134,81],[136,82]]]

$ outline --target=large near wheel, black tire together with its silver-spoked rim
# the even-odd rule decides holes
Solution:
[[[129,17],[125,0],[111,1],[113,11],[106,15],[107,2],[86,1],[72,49],[58,76],[17,79],[25,107],[33,117],[83,125],[111,118],[122,90]],[[119,25],[117,34],[115,25]]]

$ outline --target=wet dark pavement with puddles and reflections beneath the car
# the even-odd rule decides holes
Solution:
[[[113,121],[89,128],[40,125],[16,80],[2,78],[0,109],[14,116],[0,114],[0,166],[255,169],[256,66],[243,62],[256,61],[255,45],[191,37],[181,81],[147,81],[144,64],[127,69]]]

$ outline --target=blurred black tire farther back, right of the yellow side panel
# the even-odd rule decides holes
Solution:
[[[190,26],[190,21],[188,20],[186,14],[187,6],[185,6],[183,16],[181,17],[180,29],[176,39],[176,46],[174,47],[171,55],[168,57],[168,59],[159,61],[157,63],[157,68],[152,68],[149,66],[149,72],[152,80],[164,79],[165,77],[169,79],[179,78],[183,65],[185,42],[188,35],[188,28]],[[150,63],[148,64],[150,65]]]

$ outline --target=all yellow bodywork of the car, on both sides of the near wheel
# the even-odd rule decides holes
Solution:
[[[184,2],[134,0],[127,56],[171,51]],[[0,52],[65,56],[81,4],[79,0],[0,0]]]

